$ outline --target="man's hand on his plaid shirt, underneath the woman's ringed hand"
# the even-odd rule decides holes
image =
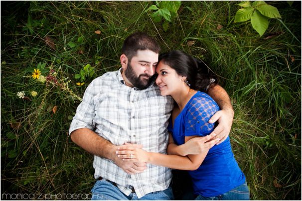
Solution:
[[[128,143],[126,143],[128,144]],[[135,145],[135,144],[132,144]],[[139,148],[142,148],[142,145],[137,145]],[[114,162],[122,168],[126,173],[128,174],[137,174],[137,173],[142,173],[144,170],[147,169],[147,163],[134,163],[134,162],[126,162],[123,161],[122,158],[119,158],[116,154],[117,151],[119,151],[120,146],[116,146],[115,148],[115,157],[114,157]]]

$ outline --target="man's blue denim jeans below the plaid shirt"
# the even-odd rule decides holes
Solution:
[[[142,198],[138,198],[136,193],[131,193],[126,196],[120,189],[114,186],[111,182],[102,179],[98,180],[91,190],[92,198],[91,200],[97,201],[107,201],[107,200],[134,200],[134,201],[144,201],[144,200],[173,200],[172,188],[169,187],[164,191],[156,191],[145,195]]]

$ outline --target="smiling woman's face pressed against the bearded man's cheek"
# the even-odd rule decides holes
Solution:
[[[159,87],[160,94],[162,96],[176,94],[184,87],[183,76],[177,74],[177,72],[168,65],[159,62],[156,67],[158,74],[155,83]]]

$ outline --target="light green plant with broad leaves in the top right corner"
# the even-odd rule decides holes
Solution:
[[[234,22],[245,22],[250,19],[253,28],[260,36],[269,27],[269,18],[281,18],[278,9],[263,0],[254,1],[252,4],[250,1],[242,1],[238,5],[243,8],[236,12]]]

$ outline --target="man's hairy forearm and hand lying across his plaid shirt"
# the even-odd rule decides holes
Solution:
[[[102,158],[114,161],[128,174],[141,173],[147,168],[146,163],[124,162],[116,155],[116,151],[119,146],[112,144],[90,129],[77,129],[71,132],[70,137],[74,143],[82,147],[84,150]]]

